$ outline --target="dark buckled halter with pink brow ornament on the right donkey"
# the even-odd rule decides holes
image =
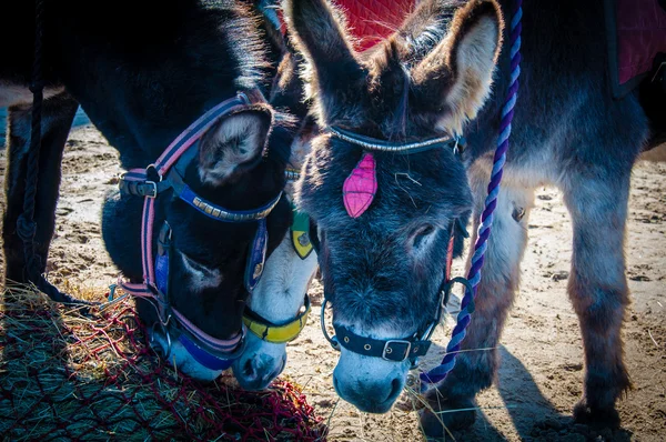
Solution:
[[[437,137],[437,138],[432,138],[432,139],[427,139],[424,141],[412,142],[412,143],[394,143],[394,142],[389,142],[389,141],[384,141],[384,140],[374,139],[371,137],[361,135],[361,134],[350,132],[344,129],[334,128],[334,127],[329,128],[329,131],[331,132],[331,134],[333,137],[336,137],[343,141],[350,142],[352,144],[359,145],[359,147],[363,148],[365,151],[370,151],[370,152],[365,152],[363,154],[363,158],[360,161],[359,165],[356,167],[356,169],[354,169],[352,174],[345,181],[346,189],[344,189],[344,191],[347,193],[355,193],[354,197],[359,197],[357,195],[359,193],[364,193],[362,190],[359,191],[359,189],[362,188],[364,184],[363,180],[369,180],[371,178],[374,180],[374,159],[372,159],[371,161],[367,160],[367,155],[372,155],[371,152],[373,152],[373,151],[390,152],[390,153],[397,153],[397,154],[412,154],[412,153],[423,152],[423,151],[435,149],[435,148],[451,148],[452,151],[454,152],[454,154],[457,155],[461,152],[461,150],[464,148],[464,144],[465,144],[465,140],[462,137],[453,138],[453,137],[446,135],[446,137]],[[367,171],[365,171],[364,175],[355,177],[354,175],[355,173],[360,173],[360,172],[357,172],[357,169],[360,167],[362,167],[362,163],[364,161],[366,163],[370,162],[372,164],[372,177],[369,177],[370,172],[367,172]],[[352,181],[354,179],[356,179],[356,182],[352,182],[351,188],[354,188],[355,191],[350,191],[349,190],[350,185],[347,183],[350,183],[350,181]],[[376,180],[374,181],[374,184],[375,184],[374,189],[376,190]],[[354,215],[352,213],[354,210],[354,207],[352,203],[350,203],[346,200],[346,197],[347,195],[345,194],[345,208],[347,209],[347,212],[350,212],[350,215],[352,215],[352,218],[357,218],[372,203],[372,199],[374,198],[374,192],[372,193],[372,195],[365,197],[366,200],[362,202],[362,204],[364,204],[364,205],[360,210],[360,213],[357,213],[356,215]],[[361,198],[363,198],[363,195]],[[356,213],[356,212],[354,212],[354,213]],[[370,338],[370,336],[362,336],[360,334],[354,333],[352,330],[350,330],[346,327],[336,325],[334,323],[333,329],[336,334],[331,336],[331,335],[329,335],[329,333],[326,331],[326,324],[325,324],[325,312],[326,312],[326,304],[329,303],[329,300],[324,293],[324,302],[322,303],[322,313],[321,313],[321,327],[322,327],[324,336],[331,343],[331,346],[333,346],[333,349],[335,349],[337,351],[340,351],[341,348],[344,346],[346,350],[352,351],[357,354],[361,354],[361,355],[382,358],[386,361],[393,361],[393,362],[403,362],[408,359],[412,363],[412,368],[413,369],[416,368],[418,365],[418,358],[425,355],[431,346],[432,334],[435,331],[435,327],[441,321],[442,313],[443,313],[444,309],[446,308],[446,304],[451,297],[451,290],[452,290],[453,285],[455,283],[461,283],[466,287],[468,285],[467,280],[465,280],[464,278],[454,278],[454,279],[451,278],[451,265],[453,262],[453,249],[454,249],[453,248],[454,230],[456,229],[456,225],[458,228],[462,228],[463,234],[465,237],[467,235],[464,230],[464,227],[462,227],[460,221],[457,219],[452,220],[451,235],[448,239],[448,248],[447,248],[447,253],[446,253],[446,267],[444,269],[444,278],[442,280],[442,283],[440,284],[440,288],[437,289],[437,293],[440,297],[440,301],[437,303],[437,311],[436,311],[433,320],[425,327],[423,332],[416,332],[413,335],[406,336],[406,338],[382,340],[382,339],[374,339],[374,338]],[[313,230],[314,230],[314,232],[313,232]],[[314,229],[312,225],[311,225],[311,237],[313,238],[313,243],[315,245],[315,249],[319,251],[319,247],[320,247],[319,238],[315,239],[316,229]]]

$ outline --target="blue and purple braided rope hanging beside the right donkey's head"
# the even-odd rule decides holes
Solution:
[[[421,373],[423,384],[437,383],[444,380],[455,366],[455,358],[461,350],[461,343],[465,339],[467,325],[472,320],[474,312],[474,298],[481,281],[481,269],[483,268],[484,257],[488,248],[488,238],[493,227],[493,212],[497,207],[497,195],[500,194],[500,183],[506,162],[506,151],[508,150],[508,138],[511,135],[511,122],[514,115],[518,93],[518,77],[521,76],[521,31],[523,18],[523,1],[515,1],[515,12],[511,21],[511,81],[506,91],[506,101],[502,108],[502,121],[500,123],[500,135],[497,137],[497,148],[495,150],[493,171],[491,182],[488,183],[488,194],[485,200],[485,208],[481,215],[481,225],[478,235],[474,244],[474,254],[472,255],[472,265],[467,273],[467,280],[472,290],[465,290],[461,311],[457,315],[457,323],[453,329],[451,341],[446,345],[446,354],[442,363],[428,371]]]

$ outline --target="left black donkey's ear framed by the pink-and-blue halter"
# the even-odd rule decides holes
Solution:
[[[261,158],[272,124],[268,109],[232,113],[201,138],[199,177],[209,185],[222,185],[251,169]]]

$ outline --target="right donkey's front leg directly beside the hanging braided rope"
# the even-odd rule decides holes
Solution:
[[[473,244],[483,211],[488,173],[482,173],[477,167],[473,167],[470,175],[475,194]],[[442,384],[427,393],[428,403],[435,413],[475,406],[476,393],[493,383],[498,365],[495,348],[519,284],[519,263],[527,244],[527,219],[533,203],[534,191],[521,184],[513,185],[509,182],[500,192],[493,233],[477,289],[476,310],[461,345],[468,351],[458,354],[453,371]],[[421,415],[423,429],[428,436],[441,436],[444,431],[442,424],[456,430],[470,426],[474,420],[474,411],[437,415],[425,411]]]

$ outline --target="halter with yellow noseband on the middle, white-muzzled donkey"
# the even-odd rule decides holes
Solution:
[[[299,171],[294,169],[287,169],[284,173],[287,181],[295,181],[301,177]],[[310,242],[309,234],[310,217],[307,217],[306,213],[299,212],[293,202],[292,212],[294,218],[290,228],[292,245],[299,258],[305,260],[312,252],[312,243]],[[249,307],[245,307],[243,323],[248,330],[263,341],[281,344],[293,341],[301,334],[301,331],[303,331],[303,328],[307,323],[310,311],[310,298],[307,297],[307,293],[305,293],[303,305],[299,310],[299,313],[296,313],[296,318],[289,322],[275,324],[252,311]]]

